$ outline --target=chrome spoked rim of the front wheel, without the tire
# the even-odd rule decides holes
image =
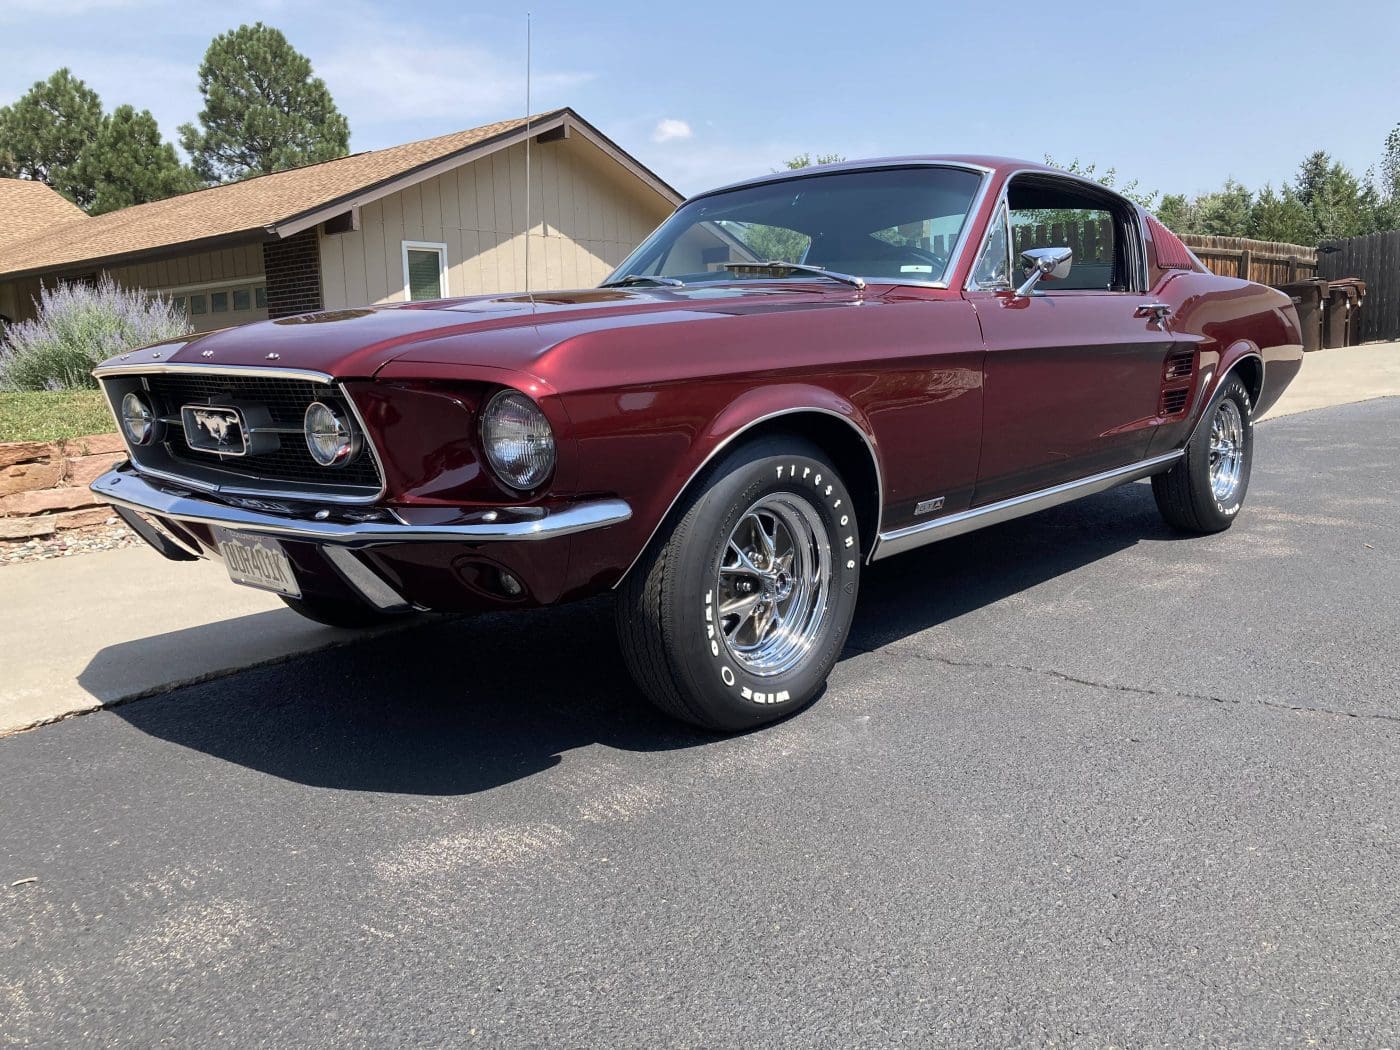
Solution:
[[[770,493],[741,517],[720,556],[715,595],[729,654],[753,675],[783,675],[820,636],[832,545],[806,500]]]

